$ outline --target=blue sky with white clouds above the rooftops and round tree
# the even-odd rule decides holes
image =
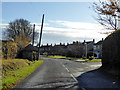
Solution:
[[[106,29],[96,20],[89,8],[92,2],[3,2],[3,31],[10,21],[26,19],[40,32],[42,15],[45,15],[42,44],[72,43],[73,41],[99,41],[105,38]],[[38,37],[39,38],[39,37]]]

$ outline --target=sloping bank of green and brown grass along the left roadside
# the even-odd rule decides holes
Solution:
[[[13,87],[17,82],[33,72],[43,61],[28,61],[25,59],[2,61],[2,89]]]

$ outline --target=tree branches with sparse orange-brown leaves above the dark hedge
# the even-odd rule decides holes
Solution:
[[[97,13],[97,21],[107,29],[118,30],[120,18],[119,0],[106,0],[93,3],[93,9]]]

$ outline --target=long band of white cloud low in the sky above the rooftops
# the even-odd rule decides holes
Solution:
[[[40,32],[40,23],[31,23],[36,24],[35,31]],[[4,24],[4,26],[8,24]],[[111,30],[106,30],[103,26],[95,23],[87,23],[87,22],[71,22],[71,21],[62,21],[50,20],[43,27],[43,41],[51,40],[57,42],[65,41],[65,40],[92,40],[96,41],[105,38],[107,34],[101,34],[105,32],[112,32]],[[52,37],[52,39],[50,38]],[[60,40],[60,41],[59,41]],[[46,43],[46,42],[43,42]]]

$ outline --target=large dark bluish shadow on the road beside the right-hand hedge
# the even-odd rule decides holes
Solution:
[[[79,88],[120,88],[120,81],[100,69],[88,71],[77,77]]]

